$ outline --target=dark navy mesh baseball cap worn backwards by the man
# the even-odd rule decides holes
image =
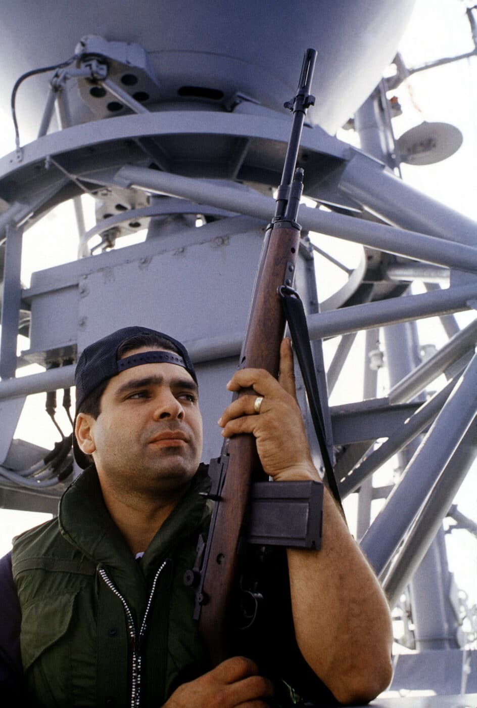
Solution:
[[[117,350],[120,346],[128,339],[141,335],[161,337],[171,343],[173,348],[178,350],[179,354],[171,351],[151,350],[118,359]],[[87,396],[104,381],[134,366],[155,362],[166,362],[168,364],[176,364],[184,367],[197,384],[197,376],[187,349],[183,344],[177,341],[177,339],[163,332],[148,329],[147,327],[123,327],[88,345],[84,348],[76,363],[76,371],[74,374],[74,385],[76,386],[76,415]],[[73,452],[79,466],[83,468],[88,467],[88,458],[84,455],[84,452],[81,452],[79,449],[75,435],[73,435]]]

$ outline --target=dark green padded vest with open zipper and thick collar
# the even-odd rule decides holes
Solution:
[[[159,707],[180,683],[207,670],[183,583],[209,524],[190,490],[136,561],[106,510],[96,469],[69,486],[59,516],[15,539],[25,681],[42,706]]]

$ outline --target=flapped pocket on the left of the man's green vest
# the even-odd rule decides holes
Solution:
[[[71,699],[71,651],[65,634],[76,594],[42,598],[23,607],[23,671],[28,685],[48,705],[68,705]]]

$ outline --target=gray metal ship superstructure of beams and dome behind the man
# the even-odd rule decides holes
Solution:
[[[141,0],[118,8],[84,0],[68,2],[63,18],[51,0],[2,4],[2,95],[11,94],[21,74],[63,63],[18,86],[19,137],[0,159],[0,506],[54,513],[71,479],[61,474],[71,454],[53,470],[42,462],[46,450],[13,440],[25,397],[71,387],[81,350],[128,324],[167,331],[188,346],[200,380],[204,459],[217,455],[214,421],[229,402],[224,384],[236,368],[289,137],[282,103],[295,89],[304,49],[316,47],[317,101],[299,152],[313,206],[299,211],[295,287],[307,313],[341,491],[357,494],[362,549],[403,619],[403,643],[418,650],[399,657],[393,687],[439,694],[374,703],[420,701],[425,708],[458,705],[457,695],[471,704],[477,695],[476,655],[465,648],[471,638],[461,629],[464,610],[442,527],[454,509],[461,527],[475,532],[452,503],[476,457],[477,320],[460,331],[452,315],[476,309],[477,224],[399,176],[386,91],[412,72],[395,55],[413,4],[243,0],[225,8],[217,0]],[[473,11],[469,20],[476,40]],[[25,52],[17,54],[19,36]],[[396,74],[382,79],[391,62]],[[334,137],[350,116],[360,149]],[[422,141],[419,150],[432,153]],[[88,232],[82,194],[97,205],[97,224]],[[25,289],[23,232],[68,200],[79,257],[34,273]],[[115,248],[139,229],[147,230],[144,242]],[[101,244],[91,253],[97,234]],[[360,264],[323,301],[316,234],[362,246]],[[414,280],[427,292],[413,295]],[[414,324],[430,316],[442,319],[449,342],[421,361]],[[358,331],[367,331],[362,401],[330,407],[328,394]],[[19,332],[30,341],[21,355]],[[337,337],[326,371],[322,341]],[[376,397],[378,340],[390,372],[385,398]],[[19,376],[29,362],[45,371]],[[427,394],[442,373],[447,385]],[[299,401],[319,467],[301,385]],[[374,485],[374,473],[397,454],[394,484]],[[377,498],[385,503],[372,519]]]

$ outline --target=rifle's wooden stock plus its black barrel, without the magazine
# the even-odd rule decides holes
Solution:
[[[277,212],[274,223],[265,234],[260,255],[239,364],[240,367],[265,369],[274,377],[278,375],[280,343],[285,335],[285,316],[277,290],[283,285],[292,285],[299,249],[300,227],[296,218],[303,171],[295,171],[295,165],[304,115],[314,103],[309,89],[315,59],[316,52],[307,50],[297,96],[285,104],[293,110],[294,125],[278,190]],[[238,395],[249,393],[242,391]],[[211,494],[216,503],[207,544],[202,547],[195,612],[200,634],[214,665],[229,656],[226,635],[230,629],[231,595],[237,581],[238,547],[252,477],[261,470],[253,435],[235,435],[224,442],[219,460],[222,472]],[[261,474],[265,480],[263,472]]]

